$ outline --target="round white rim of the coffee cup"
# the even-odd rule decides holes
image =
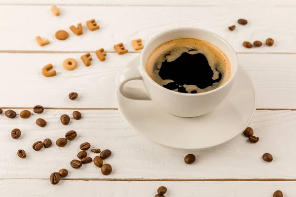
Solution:
[[[234,79],[234,76],[236,75],[237,73],[237,69],[238,69],[238,58],[237,58],[237,54],[236,52],[234,51],[233,47],[224,39],[222,38],[220,35],[218,35],[217,33],[213,33],[211,31],[208,31],[208,30],[204,30],[204,29],[201,29],[201,28],[195,28],[195,27],[179,27],[179,28],[172,28],[172,29],[169,29],[169,30],[165,30],[165,31],[162,31],[160,33],[157,33],[156,35],[154,35],[149,41],[148,43],[146,44],[146,46],[148,46],[154,39],[156,39],[157,37],[161,36],[162,34],[164,33],[169,33],[169,32],[173,32],[173,31],[179,31],[179,30],[197,30],[197,31],[201,31],[201,32],[204,32],[204,33],[210,33],[212,35],[214,35],[215,37],[218,37],[219,39],[221,39],[223,41],[223,43],[228,46],[232,52],[234,53],[234,57],[235,57],[235,62],[236,62],[236,69],[234,69],[234,72],[232,73],[232,69],[231,69],[231,76],[230,78],[220,87],[214,89],[214,90],[210,90],[208,92],[203,92],[203,93],[198,93],[198,94],[188,94],[188,93],[180,93],[180,92],[176,92],[176,91],[172,91],[172,90],[169,90],[167,88],[164,88],[162,87],[161,85],[159,85],[158,83],[156,83],[155,81],[153,81],[153,79],[151,79],[151,77],[148,75],[146,69],[145,69],[145,66],[146,65],[143,65],[143,54],[145,53],[147,47],[144,47],[142,53],[141,53],[141,70],[142,72],[144,73],[144,75],[148,78],[148,80],[156,85],[156,87],[158,88],[161,88],[161,89],[164,89],[165,91],[168,91],[172,94],[176,94],[176,95],[179,95],[179,96],[186,96],[186,97],[199,97],[199,96],[204,96],[204,95],[209,95],[209,94],[212,94],[214,92],[218,92],[219,90],[223,89],[224,87],[226,87],[233,79]],[[154,49],[153,49],[154,50]],[[230,65],[231,66],[231,65]]]

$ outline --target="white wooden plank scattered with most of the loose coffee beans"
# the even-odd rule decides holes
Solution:
[[[20,110],[16,111],[19,114]],[[161,147],[144,139],[117,110],[81,110],[81,120],[71,119],[70,125],[62,125],[60,116],[72,112],[45,110],[27,120],[0,115],[0,177],[48,178],[51,172],[67,168],[69,179],[296,179],[296,111],[257,111],[250,126],[260,139],[258,143],[250,143],[239,135],[218,148],[191,152],[197,157],[191,165],[184,163],[189,151]],[[37,118],[46,120],[47,126],[38,127]],[[10,136],[14,128],[22,131],[19,139]],[[76,139],[65,147],[57,147],[55,140],[69,130],[77,132]],[[45,138],[52,139],[53,146],[34,151],[32,144]],[[111,157],[104,160],[113,168],[109,176],[102,175],[94,164],[84,164],[80,169],[70,166],[83,142],[89,142],[92,148],[112,151]],[[18,149],[26,151],[26,159],[17,157]],[[92,158],[97,155],[87,152]],[[272,163],[262,160],[266,152],[273,155]]]

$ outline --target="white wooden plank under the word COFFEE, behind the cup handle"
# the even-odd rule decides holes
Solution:
[[[138,54],[108,53],[100,62],[94,53],[92,65],[82,64],[72,54],[0,54],[0,107],[116,108],[114,79],[120,69]],[[296,54],[238,54],[250,74],[258,95],[257,108],[296,108]],[[67,71],[62,63],[74,58],[78,67]],[[41,68],[51,63],[57,76],[46,78]],[[70,92],[79,98],[70,100]]]

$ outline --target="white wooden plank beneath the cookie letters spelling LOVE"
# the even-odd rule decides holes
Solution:
[[[0,51],[95,51],[105,48],[114,51],[113,45],[123,42],[133,51],[131,40],[142,38],[143,44],[156,33],[174,27],[191,26],[220,34],[237,52],[296,53],[296,26],[293,16],[296,7],[239,6],[239,7],[176,7],[176,6],[59,6],[61,16],[55,17],[50,6],[2,5],[0,7]],[[178,14],[176,14],[178,13]],[[227,13],[227,14],[225,14]],[[276,13],[276,14],[274,14]],[[21,16],[21,17],[20,17]],[[100,30],[90,32],[85,22],[96,19]],[[246,26],[237,24],[237,19],[246,18]],[[83,24],[84,33],[76,36],[71,25]],[[235,31],[228,30],[236,24]],[[276,28],[275,28],[276,26]],[[58,30],[70,33],[67,40],[55,38]],[[35,36],[49,39],[51,43],[40,47]],[[247,49],[244,41],[265,41],[272,37],[273,47]]]

